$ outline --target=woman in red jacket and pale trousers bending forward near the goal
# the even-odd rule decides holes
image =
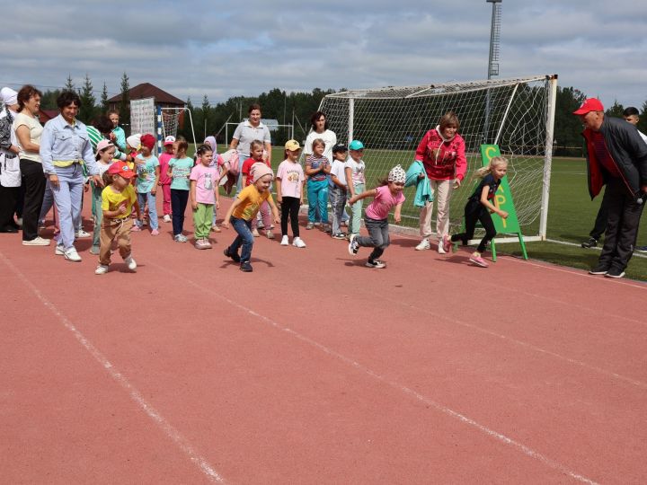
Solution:
[[[449,199],[452,191],[458,189],[467,170],[465,159],[465,140],[458,135],[458,117],[452,111],[440,118],[439,125],[430,129],[418,145],[415,159],[422,162],[430,181],[431,193],[438,204],[436,217],[436,236],[439,241],[449,233]],[[423,174],[420,177],[424,177]],[[417,251],[428,250],[431,235],[431,214],[433,201],[421,208],[420,231],[422,241]],[[442,243],[438,251],[444,254]]]

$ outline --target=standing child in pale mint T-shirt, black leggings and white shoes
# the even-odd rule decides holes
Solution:
[[[167,175],[171,177],[171,210],[173,212],[173,241],[187,242],[184,230],[184,211],[189,201],[191,184],[189,177],[193,168],[193,159],[186,155],[189,144],[186,140],[175,142],[175,157],[169,161]]]

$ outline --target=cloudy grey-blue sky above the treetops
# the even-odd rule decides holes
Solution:
[[[487,76],[485,0],[4,4],[0,84],[87,73],[99,97],[149,82],[199,103],[274,87],[364,88]],[[13,6],[15,5],[15,6]],[[646,0],[503,0],[500,77],[558,74],[605,105],[647,100]],[[8,11],[7,11],[8,9]],[[10,22],[9,22],[10,21]]]

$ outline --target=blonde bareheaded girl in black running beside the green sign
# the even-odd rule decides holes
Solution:
[[[496,197],[494,197],[506,172],[508,172],[508,159],[502,156],[493,157],[487,166],[476,171],[474,177],[483,180],[470,198],[467,199],[467,204],[465,205],[465,233],[454,234],[451,237],[446,234],[443,238],[443,249],[445,251],[449,251],[452,242],[460,241],[466,245],[474,237],[476,221],[480,221],[485,228],[485,235],[476,251],[470,256],[470,261],[482,268],[488,267],[488,263],[483,260],[482,254],[487,247],[487,243],[492,241],[492,238],[496,235],[496,229],[494,229],[490,214],[494,212],[503,219],[508,217],[508,213],[498,207]]]

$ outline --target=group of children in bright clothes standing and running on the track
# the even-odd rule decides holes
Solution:
[[[98,236],[100,242],[100,261],[95,270],[96,274],[108,271],[111,245],[114,241],[117,242],[120,255],[128,268],[137,269],[137,263],[131,255],[130,232],[142,230],[144,207],[147,206],[150,234],[159,234],[155,206],[158,186],[163,188],[164,193],[164,221],[173,221],[174,241],[187,241],[182,230],[184,212],[191,199],[195,246],[198,249],[211,247],[208,234],[215,226],[216,209],[219,207],[218,187],[226,176],[226,172],[220,170],[221,157],[216,154],[212,145],[205,144],[199,146],[196,160],[193,160],[186,154],[188,145],[185,140],[167,137],[164,141],[165,152],[158,160],[152,154],[155,144],[152,135],[144,135],[138,141],[140,146],[137,146],[137,154],[132,154],[132,163],[112,161],[115,148],[108,140],[100,142],[97,146],[96,158],[101,167],[105,188],[93,187],[94,235]],[[133,146],[136,142],[137,140],[129,141],[131,148],[136,148]],[[323,140],[316,139],[313,142],[313,154],[307,157],[304,171],[298,160],[300,145],[296,140],[286,143],[285,160],[279,164],[276,174],[277,201],[281,208],[279,217],[279,210],[270,189],[274,174],[263,160],[263,146],[256,142],[250,145],[251,156],[244,161],[241,169],[244,188],[235,197],[223,221],[224,228],[231,225],[237,233],[234,242],[226,247],[224,254],[240,264],[242,271],[253,271],[251,257],[254,235],[258,235],[255,225],[259,212],[263,215],[263,224],[270,239],[273,238],[271,224],[280,224],[280,244],[287,246],[289,221],[293,236],[292,245],[297,248],[306,247],[306,242],[300,237],[298,225],[298,211],[303,204],[305,189],[310,205],[306,228],[312,227],[311,223],[318,212],[324,229],[328,229],[330,201],[332,237],[348,237],[351,255],[356,255],[360,247],[373,248],[366,266],[376,269],[386,267],[386,263],[379,258],[389,245],[388,215],[394,209],[394,221],[400,222],[405,199],[403,187],[406,172],[397,165],[380,181],[376,189],[366,190],[366,164],[362,160],[364,145],[359,140],[352,140],[348,149],[344,145],[334,145],[332,163],[323,156],[323,148]],[[475,174],[482,181],[465,206],[465,232],[444,236],[439,244],[442,244],[446,251],[453,242],[466,244],[474,236],[476,222],[480,221],[486,234],[470,260],[479,266],[487,266],[481,254],[496,234],[490,214],[496,212],[503,218],[508,216],[497,207],[494,198],[501,178],[506,173],[507,163],[503,157],[492,158],[487,167]],[[165,186],[168,186],[168,190],[164,189]],[[171,199],[172,217],[167,212],[167,195]],[[364,217],[368,236],[359,235],[364,198],[373,198]],[[101,207],[98,207],[99,204]],[[348,236],[341,232],[341,218],[347,204],[352,209]],[[133,211],[136,214],[135,224],[131,216]]]

